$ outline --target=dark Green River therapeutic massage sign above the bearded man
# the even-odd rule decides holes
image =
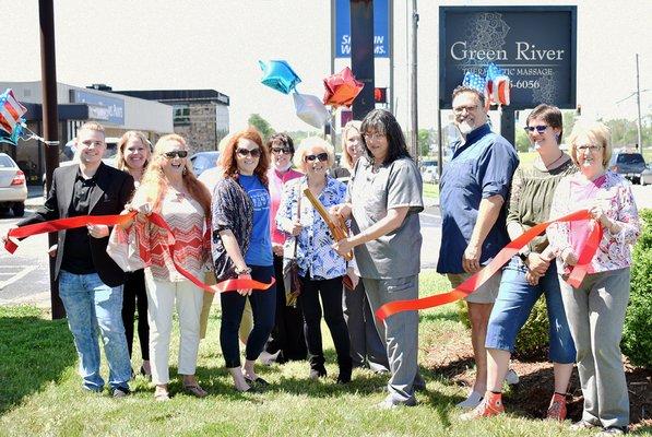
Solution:
[[[574,108],[577,7],[440,7],[440,108],[465,72],[484,76],[489,62],[511,80],[510,108]]]

